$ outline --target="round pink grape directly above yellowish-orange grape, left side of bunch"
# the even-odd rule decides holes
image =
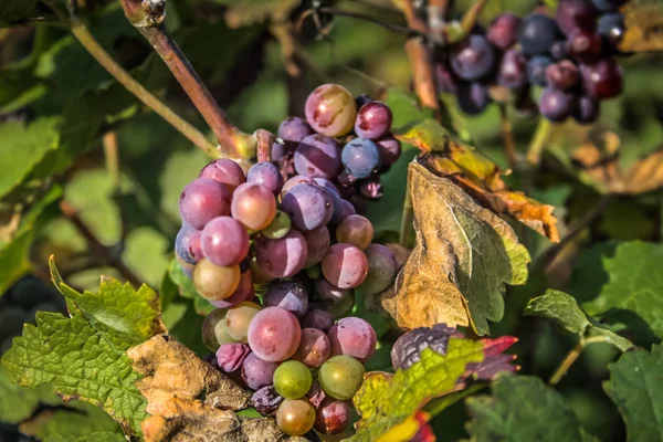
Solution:
[[[246,229],[230,217],[217,217],[208,222],[200,243],[204,257],[220,266],[241,263],[250,245]]]

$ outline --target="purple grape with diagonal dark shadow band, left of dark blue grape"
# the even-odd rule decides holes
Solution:
[[[336,178],[340,172],[340,148],[325,135],[309,135],[295,150],[295,170],[305,177]]]

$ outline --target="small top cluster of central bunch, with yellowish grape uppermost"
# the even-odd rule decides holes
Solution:
[[[392,114],[367,95],[354,98],[337,84],[311,93],[306,118],[290,117],[278,127],[272,161],[285,179],[297,175],[334,183],[359,212],[382,197],[380,175],[400,157],[391,135]]]

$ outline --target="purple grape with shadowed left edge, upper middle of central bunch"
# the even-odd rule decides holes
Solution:
[[[302,231],[325,225],[334,214],[332,198],[315,185],[298,185],[284,197],[281,210],[291,217],[293,225]]]

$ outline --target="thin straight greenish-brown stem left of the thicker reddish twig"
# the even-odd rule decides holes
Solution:
[[[97,63],[102,65],[119,84],[136,96],[143,104],[151,108],[161,118],[168,122],[180,134],[187,137],[193,145],[212,158],[219,158],[217,147],[210,143],[207,137],[193,127],[191,124],[182,119],[170,107],[154,96],[140,83],[138,83],[127,71],[125,71],[113,57],[102,48],[94,35],[90,33],[87,28],[80,21],[74,20],[71,25],[71,32],[74,38],[85,48]]]

